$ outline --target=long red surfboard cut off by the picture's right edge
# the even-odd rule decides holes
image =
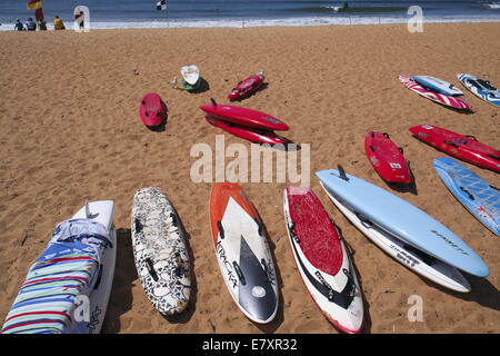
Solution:
[[[462,136],[431,125],[418,125],[409,130],[420,140],[450,156],[482,168],[500,171],[500,151],[479,142],[473,136]]]

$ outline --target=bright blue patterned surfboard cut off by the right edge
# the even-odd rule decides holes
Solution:
[[[451,194],[480,222],[500,236],[500,192],[452,158],[436,158],[434,169]]]

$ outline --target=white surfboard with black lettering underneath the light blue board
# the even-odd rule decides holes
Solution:
[[[324,187],[322,181],[320,184],[331,201],[352,222],[352,225],[390,257],[394,258],[410,270],[440,286],[460,293],[468,293],[471,290],[469,281],[457,268],[406,244],[371,221],[361,219],[357,211],[342,205],[334,195]]]

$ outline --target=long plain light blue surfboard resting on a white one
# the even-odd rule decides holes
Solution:
[[[343,170],[316,172],[342,205],[406,244],[456,268],[487,277],[489,268],[479,255],[444,225],[404,199]]]

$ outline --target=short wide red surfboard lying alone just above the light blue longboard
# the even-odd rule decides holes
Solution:
[[[368,132],[364,139],[364,150],[374,170],[383,180],[388,182],[410,182],[410,169],[407,160],[388,134]]]

